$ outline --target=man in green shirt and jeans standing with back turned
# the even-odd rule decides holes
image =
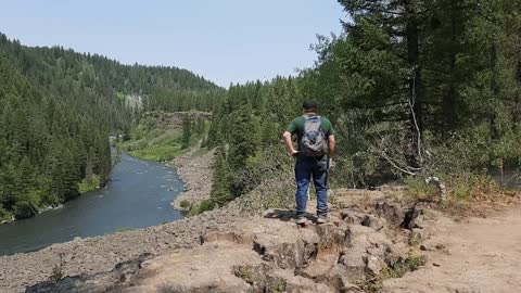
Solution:
[[[283,133],[285,148],[296,157],[296,224],[306,222],[307,190],[313,177],[317,191],[317,224],[328,222],[328,171],[334,154],[334,129],[331,122],[317,115],[315,101],[305,101],[304,115],[295,118]],[[296,133],[297,150],[291,141]]]

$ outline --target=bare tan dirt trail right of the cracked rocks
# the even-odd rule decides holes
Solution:
[[[387,280],[382,292],[521,292],[521,207],[462,222],[440,217],[431,227],[428,265]]]

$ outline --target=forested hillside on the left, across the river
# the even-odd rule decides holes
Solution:
[[[189,95],[217,89],[186,69],[29,48],[0,34],[0,220],[104,184],[111,133],[128,133],[143,107],[168,107],[160,97],[211,110]]]

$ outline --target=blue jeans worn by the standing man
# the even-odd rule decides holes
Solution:
[[[328,164],[327,156],[297,157],[295,163],[296,216],[303,216],[306,213],[307,190],[312,177],[317,191],[317,215],[328,214]]]

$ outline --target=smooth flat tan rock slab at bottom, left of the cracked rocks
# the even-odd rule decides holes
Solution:
[[[264,266],[269,264],[247,246],[203,245],[143,263],[128,279],[131,286],[123,286],[120,292],[156,292],[158,286],[169,290],[166,292],[246,292]]]

